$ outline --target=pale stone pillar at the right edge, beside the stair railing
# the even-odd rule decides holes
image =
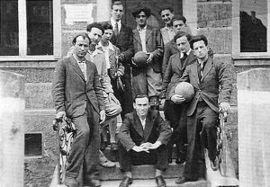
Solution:
[[[270,70],[238,74],[238,150],[240,186],[270,185],[268,145]]]

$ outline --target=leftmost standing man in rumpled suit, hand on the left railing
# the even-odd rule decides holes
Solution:
[[[102,30],[94,29],[102,35]],[[70,118],[76,127],[70,155],[67,160],[65,184],[77,186],[77,177],[83,167],[84,184],[100,186],[95,178],[100,133],[99,120],[105,120],[103,88],[93,62],[85,59],[91,43],[86,33],[72,41],[73,54],[58,61],[52,82],[56,118]]]

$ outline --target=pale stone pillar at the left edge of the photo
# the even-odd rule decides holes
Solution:
[[[24,77],[0,71],[0,186],[23,183]]]

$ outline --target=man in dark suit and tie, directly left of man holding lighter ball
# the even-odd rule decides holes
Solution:
[[[164,115],[166,120],[170,121],[173,130],[173,135],[168,143],[168,159],[172,163],[173,146],[176,145],[176,164],[183,164],[185,161],[184,143],[186,142],[186,102],[178,104],[171,100],[169,93],[175,84],[178,84],[178,79],[184,73],[187,65],[192,64],[196,57],[190,48],[189,41],[192,36],[184,31],[178,31],[175,35],[174,42],[179,49],[179,52],[171,56],[166,72],[163,77],[161,99],[165,99]],[[164,102],[164,100],[162,100]]]

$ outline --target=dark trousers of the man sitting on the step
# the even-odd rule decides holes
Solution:
[[[136,152],[132,149],[128,152],[121,144],[119,147],[119,165],[121,171],[130,172],[131,165],[156,165],[156,168],[165,171],[167,163],[166,146],[162,145],[156,150]]]

